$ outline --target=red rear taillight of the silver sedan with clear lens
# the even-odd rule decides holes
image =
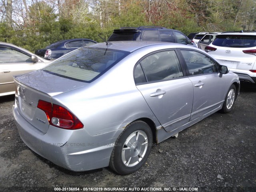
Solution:
[[[62,106],[39,100],[37,108],[45,112],[49,124],[53,126],[71,130],[84,127],[76,116]]]

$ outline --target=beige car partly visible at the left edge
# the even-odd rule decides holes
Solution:
[[[40,69],[50,62],[26,49],[0,42],[0,96],[15,93],[13,75]]]

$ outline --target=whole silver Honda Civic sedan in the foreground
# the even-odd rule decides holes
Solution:
[[[142,41],[82,47],[14,81],[12,112],[31,150],[69,170],[121,175],[141,168],[154,143],[230,112],[240,90],[206,52]]]

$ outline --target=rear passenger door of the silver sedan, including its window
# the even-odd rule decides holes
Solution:
[[[189,122],[193,86],[184,76],[175,50],[155,52],[143,58],[134,70],[134,79],[167,132]]]

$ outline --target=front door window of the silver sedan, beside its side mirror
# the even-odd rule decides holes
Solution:
[[[210,57],[192,50],[181,50],[188,67],[189,76],[217,72],[216,64]]]

